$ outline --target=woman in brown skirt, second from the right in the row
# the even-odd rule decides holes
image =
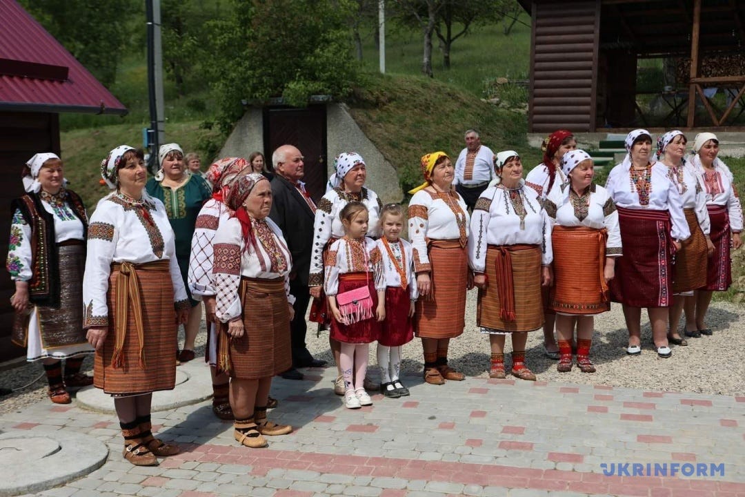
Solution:
[[[668,166],[670,179],[675,183],[683,204],[683,214],[691,236],[675,255],[673,273],[673,305],[670,307],[668,341],[675,345],[688,345],[678,332],[680,315],[685,308],[685,335],[696,334],[696,298],[694,290],[706,285],[707,257],[714,253],[709,232],[711,225],[706,209],[706,193],[696,179],[696,172],[686,164],[685,143],[682,131],[673,130],[657,139],[657,157]]]

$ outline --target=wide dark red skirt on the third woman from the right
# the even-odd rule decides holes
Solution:
[[[624,255],[616,258],[611,300],[631,307],[669,307],[673,296],[670,213],[618,209]]]

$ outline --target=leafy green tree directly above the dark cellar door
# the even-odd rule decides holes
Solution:
[[[241,102],[281,96],[304,107],[311,95],[351,91],[358,75],[346,24],[352,1],[233,0],[232,7],[227,19],[206,26],[206,69],[223,130],[243,113]]]

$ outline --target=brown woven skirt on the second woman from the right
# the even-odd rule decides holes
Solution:
[[[706,237],[701,231],[694,209],[683,209],[691,236],[682,242],[682,250],[675,254],[673,294],[696,290],[706,285]]]

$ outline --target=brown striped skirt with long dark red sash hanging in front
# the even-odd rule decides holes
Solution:
[[[498,264],[512,276],[498,276]],[[489,245],[486,288],[478,291],[476,324],[486,332],[533,332],[543,326],[541,247]],[[504,288],[500,288],[505,284]]]

